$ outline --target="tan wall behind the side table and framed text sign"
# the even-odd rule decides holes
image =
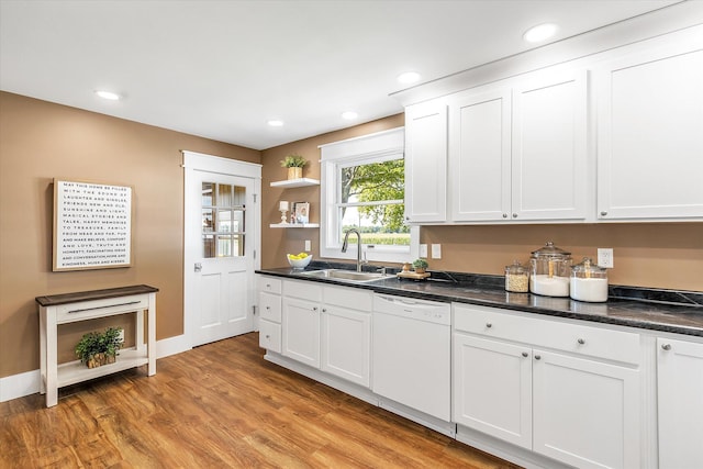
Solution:
[[[0,377],[38,368],[42,294],[152,284],[157,338],[182,333],[181,149],[260,163],[257,150],[0,93]],[[134,187],[133,267],[52,271],[55,177]],[[82,328],[64,326],[64,359]]]

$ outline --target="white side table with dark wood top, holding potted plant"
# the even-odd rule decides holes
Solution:
[[[41,384],[46,406],[58,402],[58,388],[104,375],[147,365],[156,373],[156,292],[146,284],[36,297],[40,305]],[[144,344],[144,312],[147,312],[147,340]],[[136,313],[135,347],[120,350],[114,364],[88,368],[80,360],[57,364],[59,324]]]

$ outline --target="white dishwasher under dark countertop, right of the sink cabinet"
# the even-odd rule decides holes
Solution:
[[[373,295],[375,393],[449,422],[450,311],[448,303]]]

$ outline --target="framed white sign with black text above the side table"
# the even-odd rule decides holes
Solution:
[[[132,265],[133,189],[54,179],[53,270]]]

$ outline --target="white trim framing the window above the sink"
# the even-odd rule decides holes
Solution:
[[[336,168],[344,161],[345,165],[360,161],[371,157],[382,158],[404,154],[405,132],[404,127],[348,138],[325,145],[320,145],[320,257],[330,259],[356,260],[356,248],[342,253],[342,244],[331,222],[331,211],[335,210],[334,201],[336,191]],[[410,246],[376,246],[364,247],[366,258],[369,261],[379,263],[405,263],[417,257],[420,250],[420,227],[410,227]]]

